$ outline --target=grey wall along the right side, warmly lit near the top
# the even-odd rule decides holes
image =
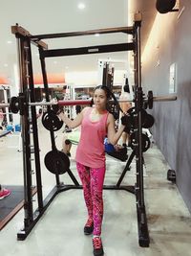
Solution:
[[[153,134],[159,149],[176,170],[177,186],[191,212],[191,2],[180,12],[157,14],[142,54],[142,85],[154,95],[169,94],[170,65],[176,63],[176,102],[155,103]],[[171,198],[173,199],[173,198]]]

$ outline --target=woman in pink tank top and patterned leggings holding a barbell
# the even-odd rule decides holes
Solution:
[[[59,117],[69,128],[81,125],[75,160],[88,210],[84,233],[93,233],[95,256],[104,254],[100,238],[103,218],[102,190],[106,170],[104,138],[107,135],[109,142],[116,145],[125,128],[121,125],[117,132],[115,130],[114,116],[106,109],[111,96],[107,86],[99,85],[95,90],[93,107],[83,108],[73,121],[64,113],[59,113]]]

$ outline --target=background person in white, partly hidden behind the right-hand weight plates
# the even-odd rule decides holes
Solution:
[[[130,89],[129,89],[129,83],[128,83],[128,81],[126,83],[127,84],[124,85],[123,91],[121,92],[121,95],[119,97],[119,101],[126,101],[125,103],[120,103],[120,107],[122,108],[123,112],[125,112],[125,113],[132,107],[132,104],[129,102],[132,100],[132,97],[130,94]],[[121,136],[123,147],[127,147],[127,144],[129,144],[129,142],[130,142],[129,132],[130,132],[129,128],[124,128],[122,136]]]

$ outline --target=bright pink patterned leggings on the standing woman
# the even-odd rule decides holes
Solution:
[[[89,218],[94,221],[93,235],[100,236],[103,219],[103,181],[105,167],[89,168],[76,163],[78,175],[83,186],[83,194],[88,209]]]

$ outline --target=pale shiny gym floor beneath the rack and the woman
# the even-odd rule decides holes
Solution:
[[[56,132],[56,145],[61,149],[62,130]],[[55,185],[54,175],[43,163],[44,155],[51,151],[49,131],[39,120],[39,142],[43,180],[43,196]],[[72,147],[71,170],[78,179]],[[19,135],[12,133],[0,139],[0,183],[22,185],[22,152],[18,151]],[[128,152],[131,153],[131,150]],[[138,221],[136,198],[125,191],[104,190],[104,220],[102,241],[106,256],[165,256],[191,255],[191,219],[175,184],[166,179],[169,169],[157,146],[144,153],[145,207],[150,234],[150,246],[138,245]],[[125,166],[124,162],[107,156],[105,184],[116,184]],[[135,159],[131,171],[122,184],[135,184]],[[60,180],[73,184],[65,174]],[[79,180],[79,179],[78,179]],[[33,175],[33,184],[34,175]],[[6,199],[6,198],[4,198]],[[35,197],[34,197],[35,199]],[[34,201],[35,209],[35,201]],[[24,211],[0,231],[0,255],[2,256],[91,256],[92,237],[84,236],[83,225],[86,209],[81,190],[69,190],[54,198],[43,217],[36,223],[25,241],[17,241],[16,234],[23,227]]]

